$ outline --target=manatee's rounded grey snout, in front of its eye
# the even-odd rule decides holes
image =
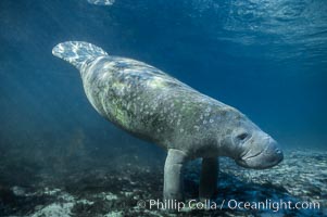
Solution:
[[[282,151],[279,144],[269,136],[264,136],[263,139],[249,141],[241,156],[236,159],[236,163],[242,167],[253,169],[271,168],[279,164],[284,159]]]

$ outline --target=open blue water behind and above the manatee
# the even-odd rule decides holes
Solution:
[[[1,0],[0,155],[41,167],[83,140],[72,156],[128,150],[164,161],[91,107],[78,72],[51,54],[67,40],[171,74],[239,108],[284,149],[327,150],[326,11],[325,0]]]

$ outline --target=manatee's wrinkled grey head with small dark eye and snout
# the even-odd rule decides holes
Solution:
[[[232,110],[227,120],[231,127],[224,135],[222,146],[226,150],[226,155],[232,157],[238,165],[265,169],[282,161],[278,143],[247,116]]]

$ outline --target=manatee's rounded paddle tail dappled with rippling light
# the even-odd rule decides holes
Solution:
[[[67,61],[78,69],[89,59],[108,55],[101,48],[84,41],[66,41],[56,44],[52,54]]]

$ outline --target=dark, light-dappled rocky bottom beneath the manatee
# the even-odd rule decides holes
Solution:
[[[0,186],[0,216],[327,216],[327,152],[292,150],[285,156],[267,170],[243,169],[222,157],[216,195],[202,202],[197,199],[200,161],[190,163],[187,200],[169,204],[179,212],[163,209],[168,205],[161,201],[163,165],[95,167],[70,171],[60,180],[45,173],[35,184]],[[300,202],[300,208],[282,202],[292,207]]]

